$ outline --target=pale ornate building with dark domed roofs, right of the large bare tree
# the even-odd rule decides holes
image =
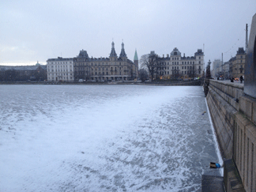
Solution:
[[[154,54],[152,51],[151,54]],[[194,56],[182,56],[181,52],[175,47],[170,55],[157,58],[158,68],[157,78],[191,78],[203,77],[205,69],[204,53],[198,49]]]

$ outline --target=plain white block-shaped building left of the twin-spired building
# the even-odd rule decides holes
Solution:
[[[49,58],[47,81],[73,81],[73,58]]]

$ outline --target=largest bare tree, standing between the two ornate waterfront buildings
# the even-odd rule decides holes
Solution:
[[[153,52],[151,54],[142,55],[140,65],[141,68],[149,71],[150,78],[153,80],[155,75],[157,75],[157,71],[159,70],[159,67],[157,66],[157,55]]]

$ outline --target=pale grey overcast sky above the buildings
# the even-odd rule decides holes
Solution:
[[[245,28],[255,0],[2,0],[0,65],[32,65],[47,58],[108,57],[111,42],[128,58],[174,47],[186,54],[205,47],[205,63],[235,56],[245,47]],[[203,46],[205,44],[205,46]]]

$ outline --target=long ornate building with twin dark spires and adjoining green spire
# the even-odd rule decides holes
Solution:
[[[74,81],[79,79],[85,81],[134,80],[137,78],[137,68],[137,61],[132,62],[127,58],[124,43],[122,43],[119,57],[115,53],[115,43],[112,42],[108,58],[89,58],[87,51],[84,50],[73,58]]]

